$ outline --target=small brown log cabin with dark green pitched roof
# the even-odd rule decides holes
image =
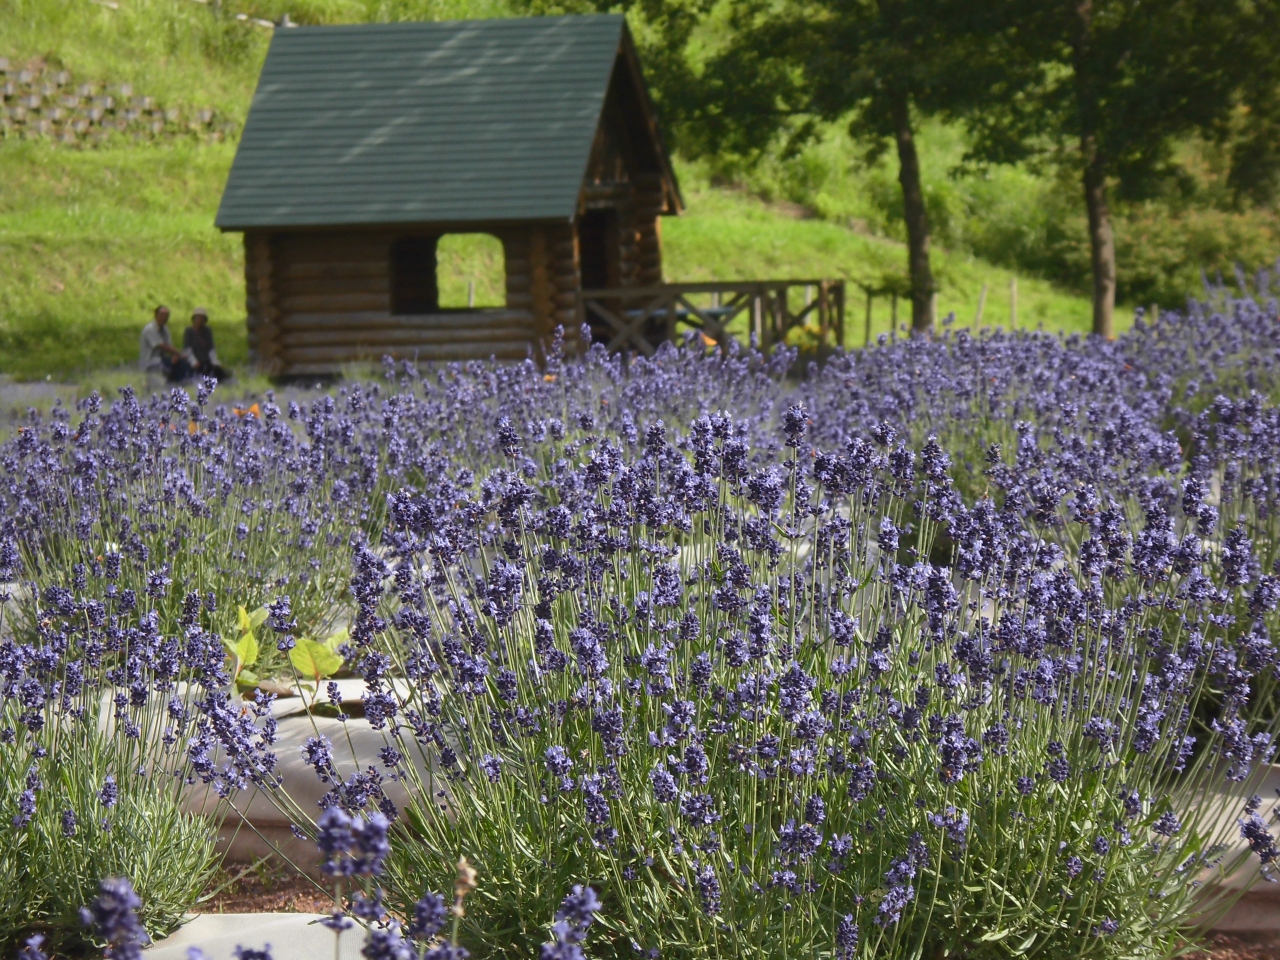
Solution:
[[[275,376],[383,356],[520,360],[582,289],[662,283],[684,207],[621,15],[278,29],[216,225],[244,236]],[[500,243],[506,303],[442,308],[442,237]]]

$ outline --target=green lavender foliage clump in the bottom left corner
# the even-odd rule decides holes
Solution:
[[[0,613],[0,635],[35,637],[38,626],[24,622],[24,605],[13,602],[8,616]],[[192,799],[206,791],[184,782],[186,741],[164,741],[165,728],[174,726],[169,704],[151,694],[145,705],[128,708],[140,736],[125,736],[111,701],[110,666],[119,662],[90,669],[88,682],[68,701],[38,708],[46,721],[38,731],[0,741],[0,809],[18,810],[19,820],[32,774],[40,781],[29,820],[0,823],[0,951],[6,955],[36,932],[58,952],[87,948],[79,908],[104,877],[131,877],[147,931],[168,933],[221,858],[211,822],[191,813]],[[73,673],[63,663],[54,682],[67,690]],[[191,705],[192,690],[175,695]],[[5,698],[0,728],[26,731],[29,709]],[[219,810],[216,797],[209,809]]]

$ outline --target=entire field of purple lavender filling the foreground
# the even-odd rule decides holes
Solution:
[[[137,955],[253,795],[369,957],[1174,955],[1280,858],[1280,307],[1208,296],[32,413],[0,951]]]

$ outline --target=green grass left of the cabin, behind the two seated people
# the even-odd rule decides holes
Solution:
[[[58,378],[137,360],[156,303],[179,333],[209,307],[219,353],[243,364],[238,236],[212,227],[233,148],[0,147],[0,372]]]

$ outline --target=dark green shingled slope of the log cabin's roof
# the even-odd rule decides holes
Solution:
[[[620,15],[278,29],[218,227],[567,220]]]

